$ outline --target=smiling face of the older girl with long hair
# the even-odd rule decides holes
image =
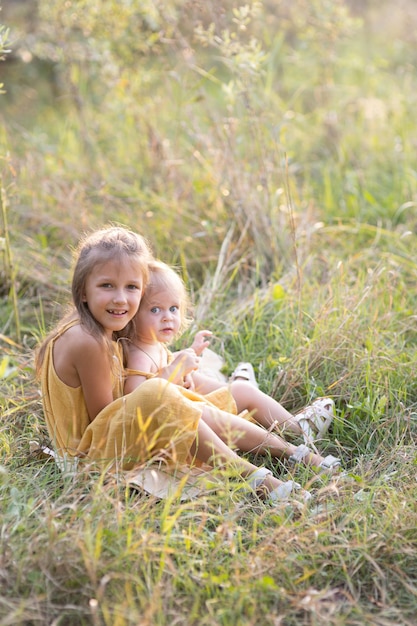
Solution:
[[[83,302],[106,334],[120,331],[136,314],[143,290],[138,263],[129,258],[97,264],[89,274]]]

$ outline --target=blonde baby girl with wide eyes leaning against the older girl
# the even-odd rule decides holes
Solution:
[[[232,426],[242,429],[248,423],[237,416],[250,412],[258,424],[270,432],[275,427],[311,439],[313,430],[320,435],[329,427],[333,417],[333,401],[322,399],[308,407],[302,414],[293,416],[273,398],[258,387],[237,378],[231,383],[221,383],[197,371],[198,355],[207,347],[210,331],[197,333],[191,348],[172,354],[167,345],[177,337],[187,325],[188,298],[184,282],[168,265],[152,261],[149,265],[149,283],[135,316],[136,338],[128,348],[128,374],[125,391],[131,392],[144,381],[155,377],[164,378],[190,394],[204,395],[206,401],[228,413],[223,429],[231,431]],[[234,414],[231,417],[230,414]],[[250,422],[249,422],[250,423]],[[220,424],[212,428],[219,434]],[[265,436],[266,432],[264,431]],[[306,445],[294,446],[281,437],[275,436],[280,456],[288,456],[291,461],[305,462],[322,469],[332,470],[340,465],[335,457],[325,459],[312,452]]]

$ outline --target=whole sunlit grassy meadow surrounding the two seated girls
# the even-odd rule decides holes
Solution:
[[[414,2],[0,7],[0,626],[414,625]],[[158,501],[31,452],[34,349],[109,223],[181,269],[226,375],[334,399],[344,473],[297,469],[311,505],[226,472]]]

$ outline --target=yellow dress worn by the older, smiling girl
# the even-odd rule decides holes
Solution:
[[[41,370],[44,414],[57,453],[123,470],[156,457],[186,463],[205,398],[161,378],[123,395],[124,371],[115,344],[114,400],[90,420],[82,388],[66,385],[53,361],[56,339],[77,323],[70,322],[50,341]]]

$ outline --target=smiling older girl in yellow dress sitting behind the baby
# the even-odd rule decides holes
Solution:
[[[44,340],[36,358],[58,459],[102,462],[112,470],[128,470],[156,458],[174,467],[197,459],[233,467],[261,497],[287,498],[299,485],[283,483],[226,443],[280,456],[282,443],[275,435],[230,416],[229,437],[224,427],[227,413],[162,378],[147,380],[123,395],[121,342],[115,339],[133,336],[132,320],[150,258],[142,237],[124,228],[100,230],[80,243],[73,310]],[[198,357],[193,351],[187,356],[190,371]]]

